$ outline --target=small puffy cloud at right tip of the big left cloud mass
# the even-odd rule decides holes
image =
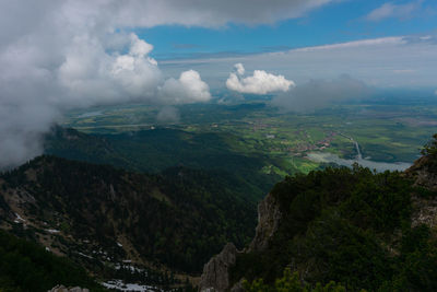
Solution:
[[[179,79],[168,79],[160,89],[160,96],[167,103],[196,103],[211,100],[210,86],[194,70],[180,73]]]

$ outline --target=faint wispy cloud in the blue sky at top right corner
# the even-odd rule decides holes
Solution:
[[[417,15],[417,11],[422,8],[422,0],[412,1],[404,4],[387,2],[370,11],[370,13],[366,15],[366,19],[368,21],[381,21],[389,17],[410,19]]]

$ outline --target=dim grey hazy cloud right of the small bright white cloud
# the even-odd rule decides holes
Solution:
[[[349,75],[333,80],[311,80],[294,90],[276,96],[272,105],[283,112],[308,112],[322,108],[331,103],[367,96],[367,85]]]

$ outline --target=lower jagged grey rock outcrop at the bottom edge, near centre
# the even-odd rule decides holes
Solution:
[[[238,250],[228,243],[218,255],[203,267],[199,290],[201,292],[222,292],[229,288],[228,269],[235,264]]]

